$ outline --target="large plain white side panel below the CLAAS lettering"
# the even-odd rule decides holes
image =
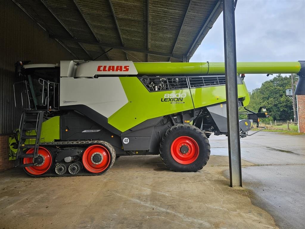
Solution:
[[[119,77],[60,78],[60,106],[83,104],[109,118],[127,103]]]

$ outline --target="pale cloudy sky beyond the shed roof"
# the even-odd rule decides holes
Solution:
[[[235,33],[237,61],[305,60],[305,0],[238,0]],[[190,59],[205,61],[224,62],[222,13]],[[245,82],[252,91],[274,76],[248,74]]]

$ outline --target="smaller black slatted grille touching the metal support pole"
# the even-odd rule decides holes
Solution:
[[[191,88],[207,87],[226,84],[226,77],[224,75],[189,77],[188,81]]]

